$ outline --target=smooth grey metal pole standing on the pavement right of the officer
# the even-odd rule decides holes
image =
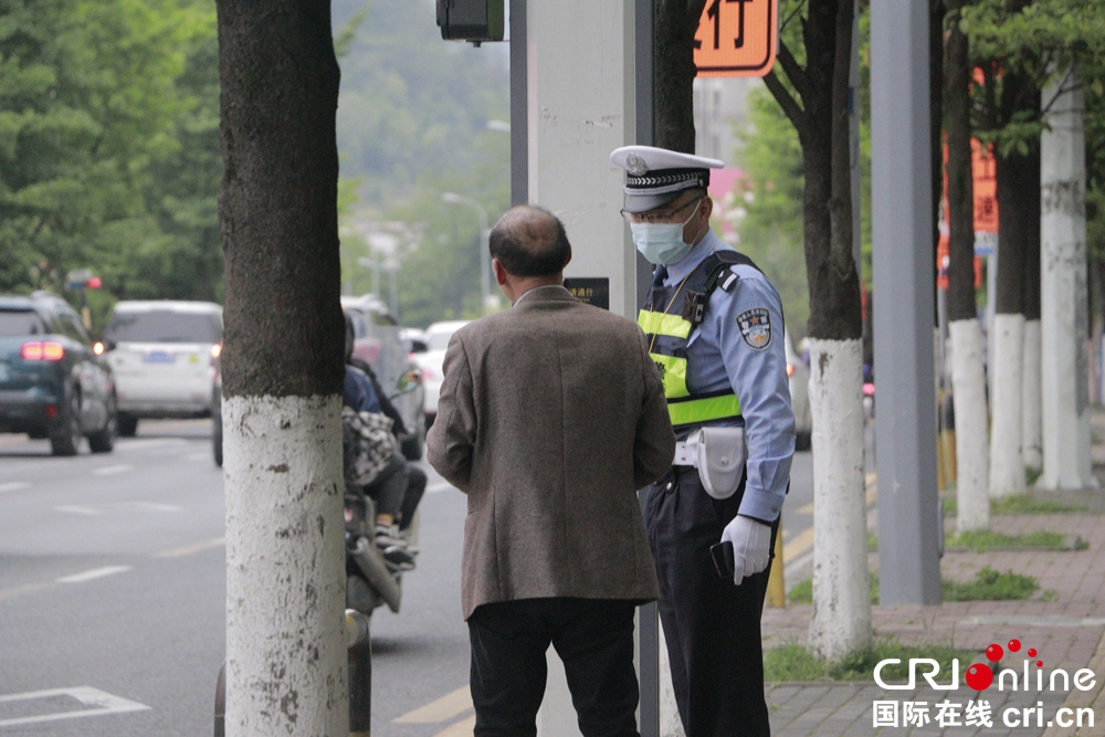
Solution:
[[[871,3],[878,569],[885,604],[937,604],[928,0]]]

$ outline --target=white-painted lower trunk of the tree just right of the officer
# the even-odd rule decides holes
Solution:
[[[813,611],[810,649],[839,661],[871,645],[863,486],[863,347],[810,340]]]

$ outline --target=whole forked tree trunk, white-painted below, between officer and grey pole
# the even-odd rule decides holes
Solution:
[[[820,392],[818,400],[811,396],[810,401],[814,566],[820,565],[819,556],[827,561],[822,575],[813,577],[810,647],[822,657],[839,660],[871,642],[863,504],[863,316],[852,251],[856,224],[852,221],[849,80],[854,4],[836,0],[807,8],[802,34],[806,69],[785,44],[780,44],[780,64],[776,66],[800,91],[801,105],[778,80],[777,71],[768,74],[765,83],[793,123],[802,145],[802,224],[811,306],[808,329],[828,361],[820,368],[814,366],[811,373],[819,377],[819,383],[814,387],[811,379],[810,385],[811,391]],[[853,557],[860,539],[862,566]],[[836,562],[845,570],[830,571]],[[862,577],[857,567],[862,567]]]

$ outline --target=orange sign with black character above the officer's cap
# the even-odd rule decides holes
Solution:
[[[775,65],[779,0],[707,0],[694,36],[698,76],[764,76]]]

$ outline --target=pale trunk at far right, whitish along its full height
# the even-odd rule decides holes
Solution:
[[[1085,103],[1073,71],[1044,91],[1041,150],[1041,386],[1046,489],[1096,488],[1090,461]]]

